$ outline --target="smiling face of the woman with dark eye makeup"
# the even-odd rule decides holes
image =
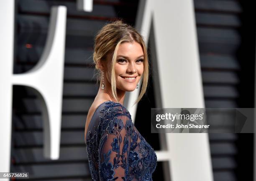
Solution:
[[[117,89],[122,91],[135,90],[143,74],[143,61],[144,53],[139,43],[133,41],[133,43],[125,42],[119,45],[115,63],[115,78]],[[111,82],[111,80],[109,82]]]

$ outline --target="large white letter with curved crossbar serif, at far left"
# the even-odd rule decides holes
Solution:
[[[59,158],[67,8],[51,8],[46,47],[39,62],[26,73],[13,74],[14,0],[0,6],[0,171],[10,171],[13,85],[33,89],[41,101],[44,156]],[[7,179],[6,179],[7,180]]]

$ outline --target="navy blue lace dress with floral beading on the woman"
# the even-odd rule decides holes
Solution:
[[[85,144],[94,181],[152,181],[156,153],[120,103],[107,101],[96,109]]]

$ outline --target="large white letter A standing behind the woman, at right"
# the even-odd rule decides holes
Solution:
[[[149,40],[156,106],[204,108],[200,60],[197,48],[195,9],[192,0],[141,0],[136,28]],[[152,40],[154,38],[154,40]],[[155,59],[155,60],[154,60]],[[125,96],[133,120],[139,91]],[[145,121],[145,120],[144,120]],[[145,122],[151,124],[150,120]],[[158,161],[166,161],[165,180],[213,181],[207,133],[160,133]],[[169,168],[168,168],[169,167]],[[200,174],[199,174],[200,173]]]

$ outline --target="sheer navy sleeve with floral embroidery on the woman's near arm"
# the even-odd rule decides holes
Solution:
[[[133,123],[129,114],[118,113],[108,122],[99,146],[100,180],[126,180]]]

